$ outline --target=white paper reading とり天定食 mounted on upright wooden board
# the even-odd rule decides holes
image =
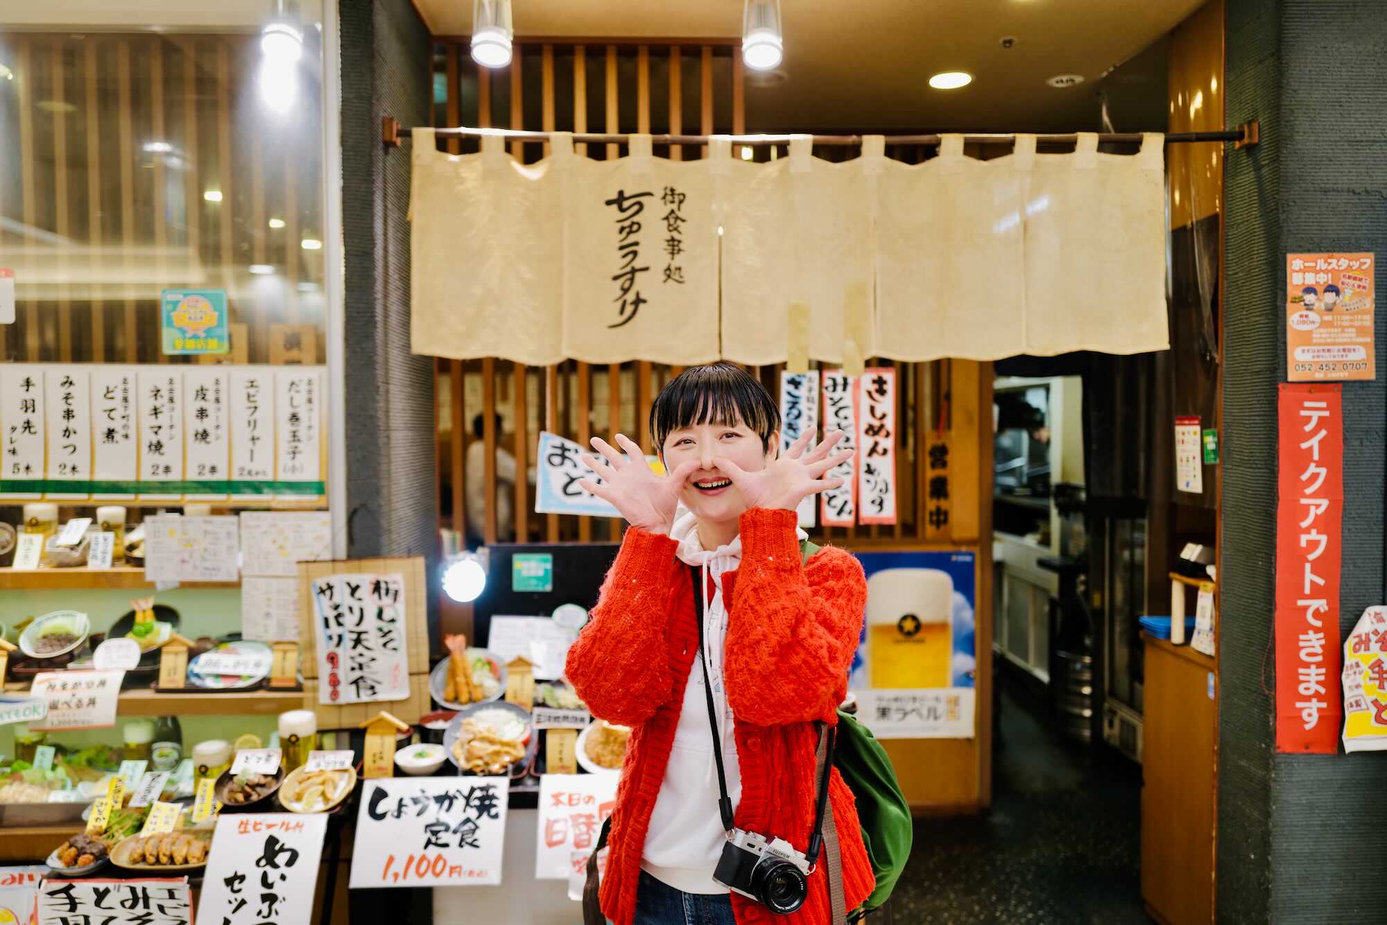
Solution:
[[[325,704],[409,696],[405,580],[340,574],[313,581],[318,699]]]

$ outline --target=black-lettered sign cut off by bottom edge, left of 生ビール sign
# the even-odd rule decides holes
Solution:
[[[39,886],[39,925],[191,925],[187,878],[62,881]]]

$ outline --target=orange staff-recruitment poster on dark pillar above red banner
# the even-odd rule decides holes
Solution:
[[[1372,381],[1373,254],[1286,255],[1286,372],[1293,383]]]

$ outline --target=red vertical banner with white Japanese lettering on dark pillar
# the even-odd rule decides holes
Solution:
[[[1343,720],[1343,386],[1283,383],[1276,503],[1276,750],[1333,754]]]

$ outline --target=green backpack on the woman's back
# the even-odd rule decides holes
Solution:
[[[800,541],[799,551],[804,563],[818,552],[820,546]],[[877,886],[871,896],[847,917],[860,919],[867,913],[881,908],[890,897],[890,890],[900,879],[910,858],[913,838],[910,804],[896,782],[896,771],[890,767],[886,749],[865,725],[850,713],[838,711],[838,734],[834,742],[834,767],[843,784],[853,792],[857,802],[857,821],[861,825],[863,845],[871,861]]]

